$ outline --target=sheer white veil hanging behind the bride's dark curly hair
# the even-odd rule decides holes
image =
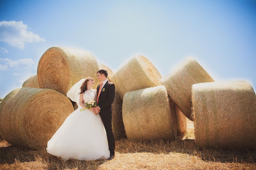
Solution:
[[[67,97],[69,97],[72,101],[76,102],[78,106],[79,105],[79,93],[81,92],[80,87],[82,86],[82,83],[84,82],[85,78],[81,79],[79,82],[74,84],[71,89],[67,92]]]

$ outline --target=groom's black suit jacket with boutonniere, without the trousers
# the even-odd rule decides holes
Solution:
[[[105,91],[102,90],[105,88]],[[97,87],[97,96],[100,90],[100,85]],[[109,117],[112,116],[112,103],[115,98],[115,84],[110,81],[107,81],[106,84],[102,87],[100,92],[98,106],[100,107],[100,117]]]

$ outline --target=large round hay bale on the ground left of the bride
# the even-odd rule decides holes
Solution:
[[[69,99],[59,92],[18,88],[0,103],[0,134],[12,145],[46,148],[49,139],[73,111]]]

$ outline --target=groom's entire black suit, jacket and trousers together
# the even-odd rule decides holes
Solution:
[[[98,106],[100,107],[100,117],[104,124],[107,138],[108,138],[108,147],[110,150],[110,156],[115,155],[115,138],[112,131],[112,103],[115,98],[115,84],[107,81],[106,84],[102,87],[104,92],[100,92]],[[100,85],[97,87],[97,96],[100,90]]]

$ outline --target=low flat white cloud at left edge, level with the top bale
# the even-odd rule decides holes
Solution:
[[[3,64],[1,64],[3,63]],[[0,58],[0,71],[8,70],[9,67],[19,69],[21,66],[26,66],[25,68],[31,67],[34,61],[31,58],[23,58],[19,60],[12,60],[10,58]]]

